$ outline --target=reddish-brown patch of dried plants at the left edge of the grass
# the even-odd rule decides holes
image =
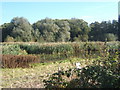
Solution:
[[[32,55],[0,55],[2,57],[2,68],[29,67],[31,63],[38,63],[36,56]]]

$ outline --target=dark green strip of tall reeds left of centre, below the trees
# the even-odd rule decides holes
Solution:
[[[69,44],[61,45],[21,45],[29,54],[54,54],[54,53],[68,53],[73,51]]]

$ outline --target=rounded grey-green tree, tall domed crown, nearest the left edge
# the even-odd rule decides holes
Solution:
[[[15,41],[32,41],[33,28],[27,19],[23,17],[15,17],[11,20],[14,25],[10,35],[14,37]]]

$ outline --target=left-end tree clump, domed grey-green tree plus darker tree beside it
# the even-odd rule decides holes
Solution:
[[[28,42],[32,41],[32,26],[23,17],[15,17],[10,23],[5,23],[2,25],[2,41],[8,41],[8,35],[14,39],[14,41]]]

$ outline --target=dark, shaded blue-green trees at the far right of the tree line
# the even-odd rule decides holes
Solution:
[[[91,41],[116,41],[118,39],[118,22],[116,20],[91,23],[90,28],[89,40]]]

